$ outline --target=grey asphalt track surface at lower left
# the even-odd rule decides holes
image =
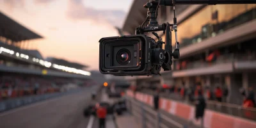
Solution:
[[[98,127],[97,118],[83,116],[83,110],[91,104],[91,94],[96,88],[36,102],[28,106],[0,113],[0,127],[4,128],[89,128]],[[108,117],[107,120],[111,120]],[[108,127],[107,127],[108,128]]]

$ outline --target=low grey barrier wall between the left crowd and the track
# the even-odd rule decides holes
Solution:
[[[33,95],[31,97],[20,97],[16,99],[10,99],[10,100],[2,100],[0,101],[0,113],[3,111],[7,111],[10,109],[18,108],[20,106],[28,105],[34,102],[38,102],[41,100],[51,99],[54,97],[60,97],[62,95],[68,95],[71,93],[76,93],[81,90],[70,90],[68,92],[58,92],[58,93],[48,93],[44,95]]]

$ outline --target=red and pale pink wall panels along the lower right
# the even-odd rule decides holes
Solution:
[[[153,96],[141,92],[132,92],[127,90],[127,97],[134,99],[138,102],[143,102],[152,108],[153,106]],[[141,104],[143,106],[144,104]],[[247,109],[246,109],[247,110]],[[184,104],[184,102],[178,102],[177,100],[171,100],[161,97],[159,99],[159,111],[163,115],[167,115],[172,120],[179,122],[180,124],[187,124],[189,120],[192,126],[198,127],[202,125],[202,120],[195,120],[195,107],[189,104]],[[246,114],[251,114],[250,111],[245,111]],[[134,113],[134,112],[133,112]],[[134,115],[136,115],[135,112]],[[155,117],[154,117],[155,118]],[[180,120],[181,119],[181,120]],[[182,121],[183,120],[183,121]],[[184,122],[186,120],[186,122]],[[163,120],[164,121],[164,120]],[[225,115],[223,113],[217,113],[216,111],[211,111],[211,109],[205,109],[204,115],[204,127],[226,127],[226,128],[255,128],[255,120],[246,120],[243,118],[237,118],[236,116]],[[141,121],[140,121],[141,122]],[[162,125],[163,126],[163,125]]]

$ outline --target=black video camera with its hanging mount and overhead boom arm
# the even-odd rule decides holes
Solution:
[[[177,19],[175,4],[241,4],[256,3],[253,0],[150,0],[144,4],[147,19],[136,28],[135,35],[101,38],[99,53],[99,70],[102,74],[115,76],[151,76],[172,70],[172,58],[179,59],[179,42],[177,40]],[[173,24],[157,22],[159,6],[173,6]],[[146,22],[148,24],[145,26]],[[155,31],[163,31],[165,42]],[[175,32],[175,49],[172,48],[172,31]],[[144,33],[152,32],[158,39]],[[163,44],[164,49],[163,49]]]

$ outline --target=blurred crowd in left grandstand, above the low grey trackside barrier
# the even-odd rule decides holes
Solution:
[[[60,92],[62,85],[73,83],[74,79],[49,76],[5,75],[0,76],[0,100],[29,95]],[[83,86],[85,81],[80,82]],[[65,88],[64,88],[65,89]],[[65,91],[65,90],[64,90]]]

